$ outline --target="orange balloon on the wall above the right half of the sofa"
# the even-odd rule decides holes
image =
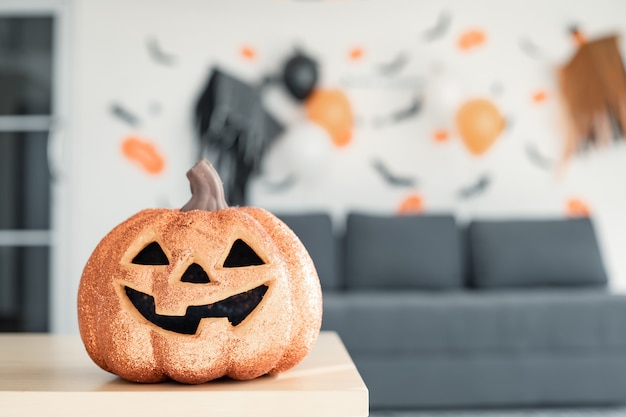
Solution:
[[[467,149],[481,155],[502,133],[505,120],[491,101],[474,99],[457,111],[456,126]]]

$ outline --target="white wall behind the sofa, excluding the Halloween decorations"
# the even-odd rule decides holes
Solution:
[[[443,36],[425,40],[442,16]],[[82,267],[113,226],[147,207],[180,207],[188,199],[186,170],[195,160],[192,108],[212,65],[251,83],[280,71],[296,46],[320,64],[320,87],[337,88],[350,99],[357,124],[351,144],[333,148],[315,181],[272,191],[268,176],[255,181],[251,203],[277,211],[328,210],[340,224],[348,210],[396,212],[417,193],[425,212],[455,212],[461,219],[503,216],[563,216],[579,198],[596,220],[612,286],[626,288],[626,146],[623,143],[573,159],[561,175],[531,163],[534,147],[557,160],[562,146],[555,69],[574,52],[567,29],[578,23],[589,38],[626,31],[626,2],[568,1],[206,1],[77,0],[73,7],[74,66],[72,128],[68,137],[71,204],[68,239],[61,248],[66,275],[57,286],[64,307],[57,331],[74,331],[75,294]],[[459,36],[479,28],[486,42],[461,51]],[[175,57],[159,65],[147,49],[150,39]],[[520,45],[531,44],[536,54]],[[240,53],[251,46],[255,58]],[[360,47],[361,59],[349,52]],[[624,45],[621,45],[624,50]],[[380,76],[380,65],[405,54],[403,70]],[[467,151],[454,131],[453,114],[436,113],[429,88],[437,74],[456,86],[453,107],[473,97],[494,102],[507,129],[482,156]],[[402,88],[398,86],[402,85]],[[542,90],[547,99],[532,100]],[[431,95],[429,95],[431,94]],[[406,108],[416,96],[422,111],[401,123],[375,121]],[[265,97],[285,126],[306,122],[302,106],[281,88]],[[113,117],[119,103],[141,120],[131,127]],[[431,103],[429,107],[429,103]],[[432,139],[439,123],[451,137]],[[137,134],[156,144],[165,170],[149,175],[120,152],[125,137]],[[415,178],[414,187],[391,187],[371,167],[379,158],[394,173]],[[281,161],[268,164],[268,172]],[[274,171],[273,171],[274,170]],[[461,199],[462,187],[481,175],[486,191]]]

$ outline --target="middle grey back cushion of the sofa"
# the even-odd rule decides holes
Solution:
[[[350,213],[345,274],[349,289],[460,287],[460,239],[454,217]]]

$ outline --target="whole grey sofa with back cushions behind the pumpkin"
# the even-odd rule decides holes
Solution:
[[[372,409],[626,403],[626,296],[592,221],[280,215]],[[335,228],[337,229],[337,228]]]

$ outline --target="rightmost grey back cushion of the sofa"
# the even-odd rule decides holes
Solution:
[[[468,233],[477,287],[607,282],[589,218],[474,221]]]

